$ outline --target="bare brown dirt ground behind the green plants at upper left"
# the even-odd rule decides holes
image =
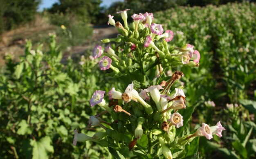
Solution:
[[[38,43],[38,39],[47,37],[49,32],[56,31],[57,27],[45,23],[44,20],[36,18],[34,24],[30,26],[21,27],[15,30],[5,32],[0,39],[0,66],[4,65],[4,54],[6,52],[12,53],[14,59],[18,60],[19,56],[24,54],[26,39],[31,39],[32,44]],[[115,38],[117,36],[117,29],[109,25],[93,26],[93,33],[87,42],[70,48],[64,51],[63,61],[68,56],[77,57],[85,53],[87,49],[93,49],[96,43],[101,43],[100,40],[104,38]]]

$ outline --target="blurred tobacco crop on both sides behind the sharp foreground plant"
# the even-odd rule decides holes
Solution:
[[[200,139],[199,145],[207,143],[199,146],[200,157],[255,157],[256,5],[179,7],[154,13],[154,17],[156,23],[166,24],[165,30],[175,32],[171,45],[181,47],[188,42],[201,54],[198,69],[173,68],[185,75],[181,81],[186,86],[187,104],[198,107],[189,124],[191,130],[199,126],[194,123],[215,125],[221,118],[227,129],[222,140]],[[61,63],[62,53],[54,39],[50,36],[49,51],[43,54],[31,54],[31,49],[41,50],[42,45],[34,48],[28,42],[19,62],[13,61],[11,54],[5,56],[6,68],[0,74],[0,156],[111,158],[106,148],[94,143],[73,147],[73,134],[75,128],[93,134],[94,128],[86,126],[89,114],[100,112],[89,105],[95,90],[123,90],[125,85],[105,77],[97,60],[89,57],[90,51],[84,65],[72,59]],[[216,107],[207,107],[204,101],[208,100]],[[243,107],[230,110],[227,103]]]

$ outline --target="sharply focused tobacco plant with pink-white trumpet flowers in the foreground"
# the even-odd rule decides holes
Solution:
[[[102,130],[93,137],[75,130],[73,143],[97,142],[108,147],[116,158],[127,157],[121,153],[126,150],[147,158],[188,157],[191,154],[186,153],[187,144],[193,139],[212,139],[214,134],[222,137],[221,132],[225,130],[218,122],[216,126],[202,123],[202,127],[191,134],[183,131],[194,107],[186,105],[184,86],[173,88],[183,73],[176,71],[166,76],[165,71],[177,65],[199,66],[200,53],[190,44],[170,47],[173,32],[155,24],[153,13],[133,14],[134,21],[129,25],[127,11],[129,9],[118,12],[124,27],[108,15],[108,24],[115,26],[120,34],[101,42],[112,42],[115,47],[109,44],[103,51],[104,47],[96,45],[93,51],[94,58],[102,56],[99,60],[102,71],[112,69],[106,76],[123,79],[126,89],[112,87],[107,94],[101,90],[94,92],[90,105],[99,105],[104,111],[91,116],[89,126]],[[106,96],[109,102],[104,100]],[[111,123],[105,121],[104,116],[111,116],[108,120]]]

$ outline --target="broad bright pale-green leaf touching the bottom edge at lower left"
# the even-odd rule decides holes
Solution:
[[[32,159],[48,159],[48,154],[54,152],[51,138],[48,136],[41,138],[39,141],[30,140],[30,145],[33,146]]]

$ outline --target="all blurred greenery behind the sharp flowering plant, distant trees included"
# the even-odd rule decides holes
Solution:
[[[66,58],[65,63],[61,51],[85,39],[90,41],[91,24],[106,25],[108,14],[122,22],[116,12],[127,8],[130,16],[153,12],[156,23],[175,33],[170,45],[191,43],[201,53],[199,68],[173,68],[184,72],[181,81],[186,86],[187,104],[197,105],[191,129],[201,122],[215,125],[220,119],[227,129],[221,139],[200,139],[200,157],[255,157],[255,1],[125,0],[108,8],[101,7],[101,2],[59,0],[39,13],[39,0],[0,1],[0,34],[31,25],[40,16],[55,26],[58,35],[34,35],[19,60],[13,60],[15,54],[4,56],[5,66],[0,69],[0,158],[39,158],[39,154],[43,154],[40,158],[111,158],[106,148],[94,143],[72,146],[73,134],[75,128],[89,136],[95,131],[86,128],[89,116],[100,112],[99,107],[91,109],[89,105],[95,90],[107,92],[124,85],[99,71],[97,61],[90,58],[92,49],[81,61]],[[38,45],[33,46],[34,42]],[[214,101],[216,106],[205,101]],[[233,106],[227,107],[227,103]]]

